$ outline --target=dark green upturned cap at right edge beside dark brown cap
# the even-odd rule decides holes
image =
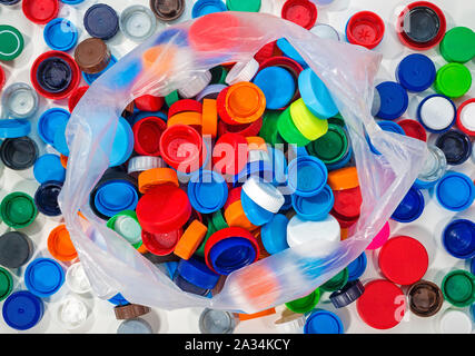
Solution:
[[[453,270],[444,277],[442,293],[456,307],[469,306],[475,303],[475,276],[467,270]]]

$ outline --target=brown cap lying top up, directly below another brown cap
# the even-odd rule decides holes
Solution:
[[[79,68],[88,75],[96,75],[109,65],[110,51],[100,38],[88,38],[80,42],[75,51]]]

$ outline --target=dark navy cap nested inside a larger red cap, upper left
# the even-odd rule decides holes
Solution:
[[[59,57],[49,57],[41,61],[37,70],[38,85],[47,92],[65,91],[72,80],[72,69]]]

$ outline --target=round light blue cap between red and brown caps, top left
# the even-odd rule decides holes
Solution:
[[[78,42],[78,30],[71,21],[56,18],[44,27],[43,38],[52,50],[69,51]]]

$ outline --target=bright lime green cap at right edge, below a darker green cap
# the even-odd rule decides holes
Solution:
[[[435,90],[449,98],[464,96],[472,86],[471,71],[461,63],[448,63],[437,70]]]

